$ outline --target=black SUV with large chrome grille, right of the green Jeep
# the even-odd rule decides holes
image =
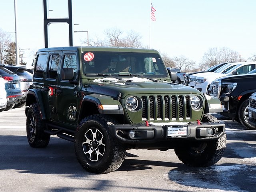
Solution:
[[[248,122],[249,97],[256,91],[256,69],[247,74],[225,76],[212,82],[208,94],[220,99],[223,116],[240,122],[248,129],[255,126]]]

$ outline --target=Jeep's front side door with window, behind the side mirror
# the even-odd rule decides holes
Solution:
[[[64,67],[74,69],[74,79],[78,80],[78,57],[76,52],[63,51],[60,71]],[[61,73],[61,72],[60,72]],[[61,74],[56,89],[56,110],[58,120],[71,125],[77,124],[78,85],[62,80]],[[74,127],[73,127],[74,128]]]

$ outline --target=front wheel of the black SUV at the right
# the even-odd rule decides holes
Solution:
[[[238,120],[247,129],[256,129],[256,127],[248,123],[248,118],[249,118],[248,107],[249,107],[249,99],[246,99],[242,102],[242,104],[238,109]]]

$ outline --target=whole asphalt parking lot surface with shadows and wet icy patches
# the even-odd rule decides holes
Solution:
[[[2,191],[248,191],[256,188],[256,131],[214,114],[226,124],[227,147],[216,165],[192,168],[174,150],[127,150],[109,174],[80,167],[73,143],[51,137],[34,149],[26,139],[24,107],[0,113]]]

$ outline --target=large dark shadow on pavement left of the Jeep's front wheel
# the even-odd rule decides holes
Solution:
[[[0,135],[0,170],[22,173],[79,174],[86,172],[78,163],[74,144],[51,137],[48,147],[32,148],[26,136]]]

